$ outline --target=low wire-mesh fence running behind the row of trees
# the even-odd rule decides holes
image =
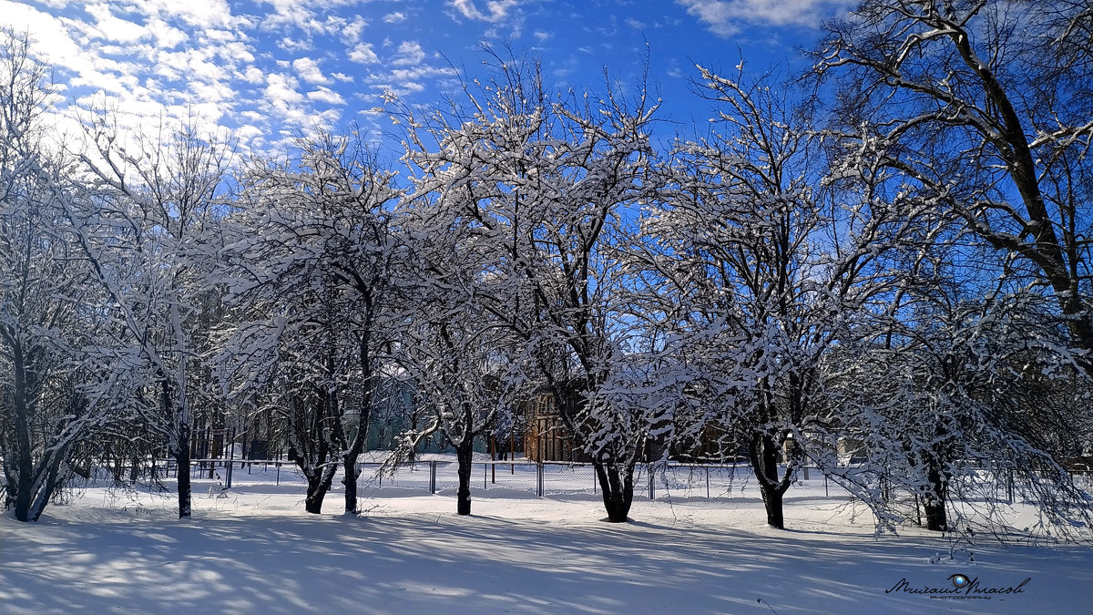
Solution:
[[[459,486],[455,461],[416,461],[399,465],[395,472],[384,472],[383,464],[362,462],[357,490],[362,497],[381,497],[386,489],[416,490],[428,494],[451,495]],[[191,460],[190,475],[196,494],[208,490],[210,495],[227,489],[306,488],[307,480],[294,462],[246,460]],[[339,469],[340,472],[340,469]],[[137,471],[118,465],[92,468],[89,483],[114,479],[131,483],[152,478],[166,480],[177,476],[174,460],[146,460]],[[1074,480],[1086,490],[1093,490],[1093,476],[1074,475]],[[334,481],[334,490],[340,481]],[[890,504],[908,518],[922,514],[919,498],[906,490],[889,490],[881,481],[877,487]],[[512,495],[580,497],[597,496],[599,483],[591,464],[545,462],[541,464],[518,459],[515,461],[477,461],[471,471],[473,497],[505,497]],[[740,464],[638,464],[634,468],[634,497],[653,499],[709,499],[762,500],[759,485],[751,467]],[[996,476],[985,471],[972,471],[950,484],[950,497],[961,501],[1006,502],[1014,501],[1012,476]],[[815,467],[799,468],[784,496],[785,500],[830,499],[849,501],[854,496]]]

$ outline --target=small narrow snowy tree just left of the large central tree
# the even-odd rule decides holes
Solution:
[[[456,450],[456,510],[470,514],[474,440],[491,436],[532,391],[520,338],[490,311],[517,289],[497,275],[492,233],[427,198],[408,199],[401,230],[412,252],[402,304],[407,310],[393,367],[414,392],[424,423],[406,430],[389,459],[409,459],[424,439],[439,434]]]

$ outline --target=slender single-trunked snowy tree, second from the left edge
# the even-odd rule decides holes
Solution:
[[[127,369],[129,386],[142,392],[142,425],[178,466],[178,515],[188,518],[196,402],[211,391],[202,357],[220,301],[212,272],[232,148],[192,123],[129,135],[113,114],[93,113],[85,130],[90,196],[68,201],[66,216],[111,309],[114,337],[96,353]]]

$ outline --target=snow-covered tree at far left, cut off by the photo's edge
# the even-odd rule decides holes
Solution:
[[[115,417],[118,386],[87,352],[109,310],[73,254],[64,204],[86,195],[47,136],[47,79],[28,39],[0,30],[0,457],[20,521],[42,515],[77,448]]]

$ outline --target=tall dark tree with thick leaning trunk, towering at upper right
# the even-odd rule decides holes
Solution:
[[[834,82],[836,132],[883,140],[885,163],[1049,288],[1093,351],[1089,3],[867,0],[827,30],[814,72]]]

